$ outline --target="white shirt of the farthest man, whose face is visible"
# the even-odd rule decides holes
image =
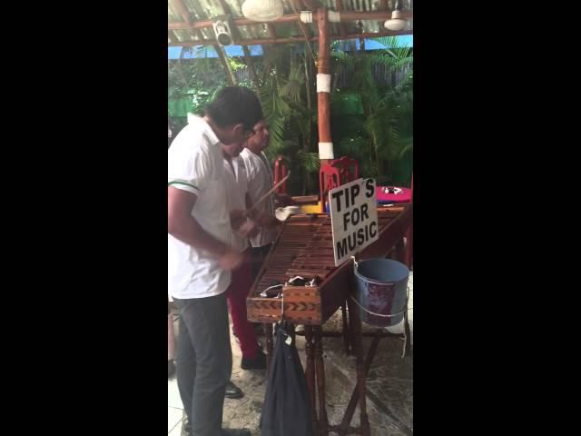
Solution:
[[[240,154],[246,167],[248,177],[248,193],[252,204],[258,202],[262,195],[268,193],[273,186],[271,165],[266,154],[253,154],[248,148],[244,148]],[[257,209],[262,213],[274,215],[274,194],[261,203]],[[261,228],[261,233],[251,238],[252,247],[262,247],[272,243],[278,235],[278,231],[272,227]]]

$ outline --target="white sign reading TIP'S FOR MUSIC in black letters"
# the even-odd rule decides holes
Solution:
[[[358,179],[329,192],[335,266],[379,239],[375,180]]]

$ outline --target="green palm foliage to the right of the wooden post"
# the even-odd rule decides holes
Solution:
[[[338,90],[337,94],[356,94],[362,108],[359,119],[355,117],[357,121],[352,115],[350,123],[341,120],[341,115],[335,117],[333,124],[350,128],[340,129],[339,136],[333,137],[339,152],[359,160],[363,175],[376,177],[379,182],[404,184],[408,180],[394,180],[394,173],[401,171],[393,170],[409,161],[406,157],[413,149],[413,51],[394,36],[376,41],[386,48],[373,54],[331,52],[335,63],[342,65],[352,78],[349,88]],[[384,65],[389,74],[399,75],[399,82],[378,84],[373,74],[376,65]]]

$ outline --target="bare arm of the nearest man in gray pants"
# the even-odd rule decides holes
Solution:
[[[214,254],[222,268],[232,270],[242,262],[242,255],[202,229],[192,216],[197,196],[194,193],[168,186],[167,232],[192,247]]]

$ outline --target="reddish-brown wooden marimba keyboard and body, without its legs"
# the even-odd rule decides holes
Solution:
[[[412,204],[378,208],[379,240],[362,253],[360,259],[385,257],[394,249],[403,259],[403,237],[411,226]],[[401,253],[399,253],[401,252]],[[330,215],[293,215],[273,243],[246,301],[248,320],[321,325],[337,311],[350,295],[353,264],[335,267]],[[294,276],[320,277],[311,287],[284,286],[283,298],[261,297],[275,282],[284,283]]]

